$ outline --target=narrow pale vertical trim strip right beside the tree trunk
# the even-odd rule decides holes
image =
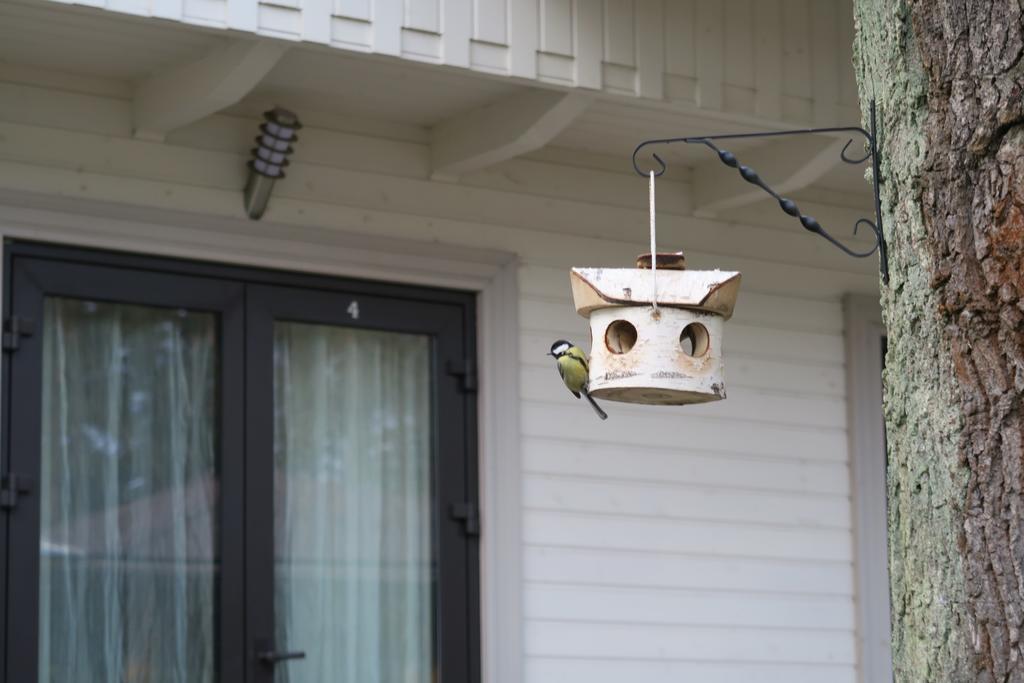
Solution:
[[[886,334],[877,296],[848,295],[847,407],[850,435],[859,680],[893,680],[886,519],[882,347]]]

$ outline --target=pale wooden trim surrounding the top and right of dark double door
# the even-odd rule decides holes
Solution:
[[[4,190],[0,238],[477,292],[481,675],[485,683],[521,683],[515,254]]]

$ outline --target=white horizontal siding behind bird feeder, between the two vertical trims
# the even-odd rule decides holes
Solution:
[[[564,280],[520,274],[527,680],[853,681],[840,306],[744,276],[728,399],[598,425],[541,355]]]

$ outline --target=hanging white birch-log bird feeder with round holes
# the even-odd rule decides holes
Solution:
[[[682,253],[636,268],[572,268],[577,312],[590,318],[590,393],[682,405],[725,398],[724,323],[740,273],[686,270]]]

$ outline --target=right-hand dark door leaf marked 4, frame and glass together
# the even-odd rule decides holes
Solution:
[[[369,292],[253,287],[249,517],[256,681],[465,680],[464,311]],[[438,370],[440,369],[440,372]],[[453,457],[454,456],[454,457]],[[258,492],[258,493],[257,493]],[[272,595],[259,601],[257,596]],[[458,604],[458,602],[456,603]],[[272,625],[272,626],[271,626]],[[299,657],[301,658],[291,658]]]

